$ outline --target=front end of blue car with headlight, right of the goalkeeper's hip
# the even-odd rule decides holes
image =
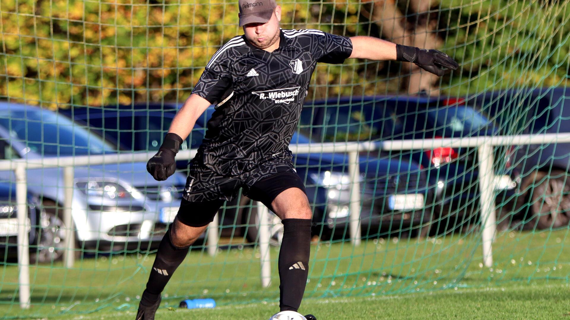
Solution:
[[[312,143],[300,133],[292,144]],[[298,174],[324,188],[326,210],[323,229],[327,236],[348,236],[350,219],[349,157],[346,153],[294,155]],[[431,223],[431,194],[425,173],[410,158],[378,158],[359,155],[360,222],[363,235],[386,237],[394,233],[426,235]],[[312,182],[313,183],[313,182]],[[311,185],[307,182],[307,185]]]

